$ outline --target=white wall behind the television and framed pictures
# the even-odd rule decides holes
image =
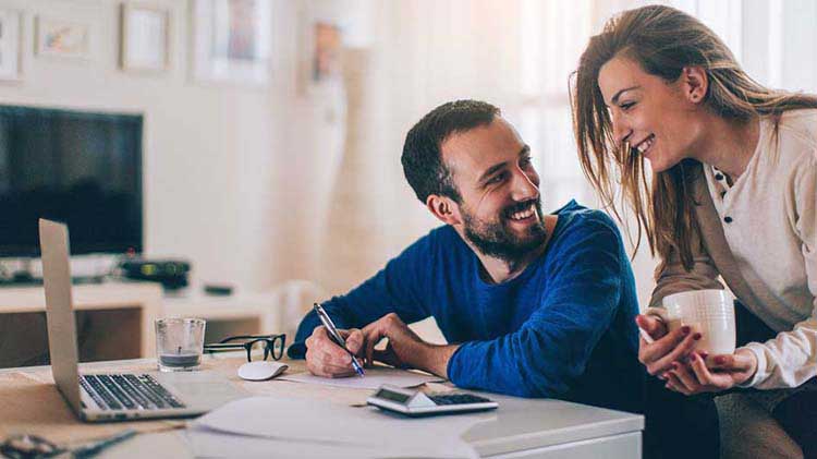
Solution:
[[[118,68],[119,1],[0,1],[24,12],[22,81],[0,84],[0,102],[144,113],[146,254],[188,257],[200,279],[263,288],[273,276],[270,181],[286,150],[295,12],[275,2],[273,77],[252,87],[192,81],[188,2],[151,3],[171,13],[170,68],[158,75]],[[38,14],[90,22],[93,58],[35,56]]]

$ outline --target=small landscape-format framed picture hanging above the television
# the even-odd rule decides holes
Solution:
[[[90,59],[90,25],[37,16],[37,56]]]

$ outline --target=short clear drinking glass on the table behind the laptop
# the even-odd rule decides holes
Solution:
[[[159,371],[198,370],[204,352],[204,318],[157,318],[156,354]]]

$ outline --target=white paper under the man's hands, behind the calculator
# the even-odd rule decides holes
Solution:
[[[416,387],[425,383],[439,383],[446,381],[434,375],[398,370],[389,366],[366,369],[366,376],[364,377],[355,375],[342,378],[329,378],[315,376],[310,373],[297,373],[294,375],[284,374],[279,376],[278,379],[355,389],[377,389],[383,384],[391,384],[392,386],[398,387]]]

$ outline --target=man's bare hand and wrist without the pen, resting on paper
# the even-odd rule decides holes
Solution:
[[[375,361],[399,369],[423,370],[448,378],[448,361],[459,346],[436,346],[423,341],[394,314],[387,314],[363,328],[367,365]],[[377,350],[383,338],[386,350]]]

